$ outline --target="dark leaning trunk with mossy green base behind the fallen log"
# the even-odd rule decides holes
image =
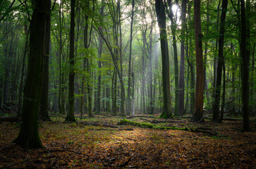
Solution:
[[[161,65],[162,65],[162,80],[164,92],[164,112],[161,114],[163,118],[172,118],[171,113],[171,91],[170,91],[170,76],[169,76],[169,51],[166,35],[166,16],[164,12],[164,2],[155,0],[157,11],[157,22],[160,29],[161,43]]]

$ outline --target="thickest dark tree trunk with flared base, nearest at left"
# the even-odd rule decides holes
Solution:
[[[13,141],[23,148],[40,148],[37,117],[42,94],[44,56],[47,39],[47,12],[51,1],[33,0],[32,20],[30,25],[30,55],[28,77],[25,82],[22,123],[18,137]]]

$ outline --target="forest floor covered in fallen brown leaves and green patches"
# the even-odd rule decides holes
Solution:
[[[0,168],[256,168],[255,120],[251,132],[241,132],[241,120],[126,118],[208,132],[117,125],[123,119],[118,115],[77,118],[77,123],[63,123],[60,116],[39,122],[43,149],[21,149],[11,143],[19,123],[0,121]]]

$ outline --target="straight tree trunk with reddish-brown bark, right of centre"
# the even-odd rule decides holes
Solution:
[[[192,121],[202,120],[202,108],[204,104],[204,73],[202,59],[202,33],[200,0],[194,1],[194,25],[195,25],[195,56],[196,56],[196,85],[195,85],[195,108]]]

